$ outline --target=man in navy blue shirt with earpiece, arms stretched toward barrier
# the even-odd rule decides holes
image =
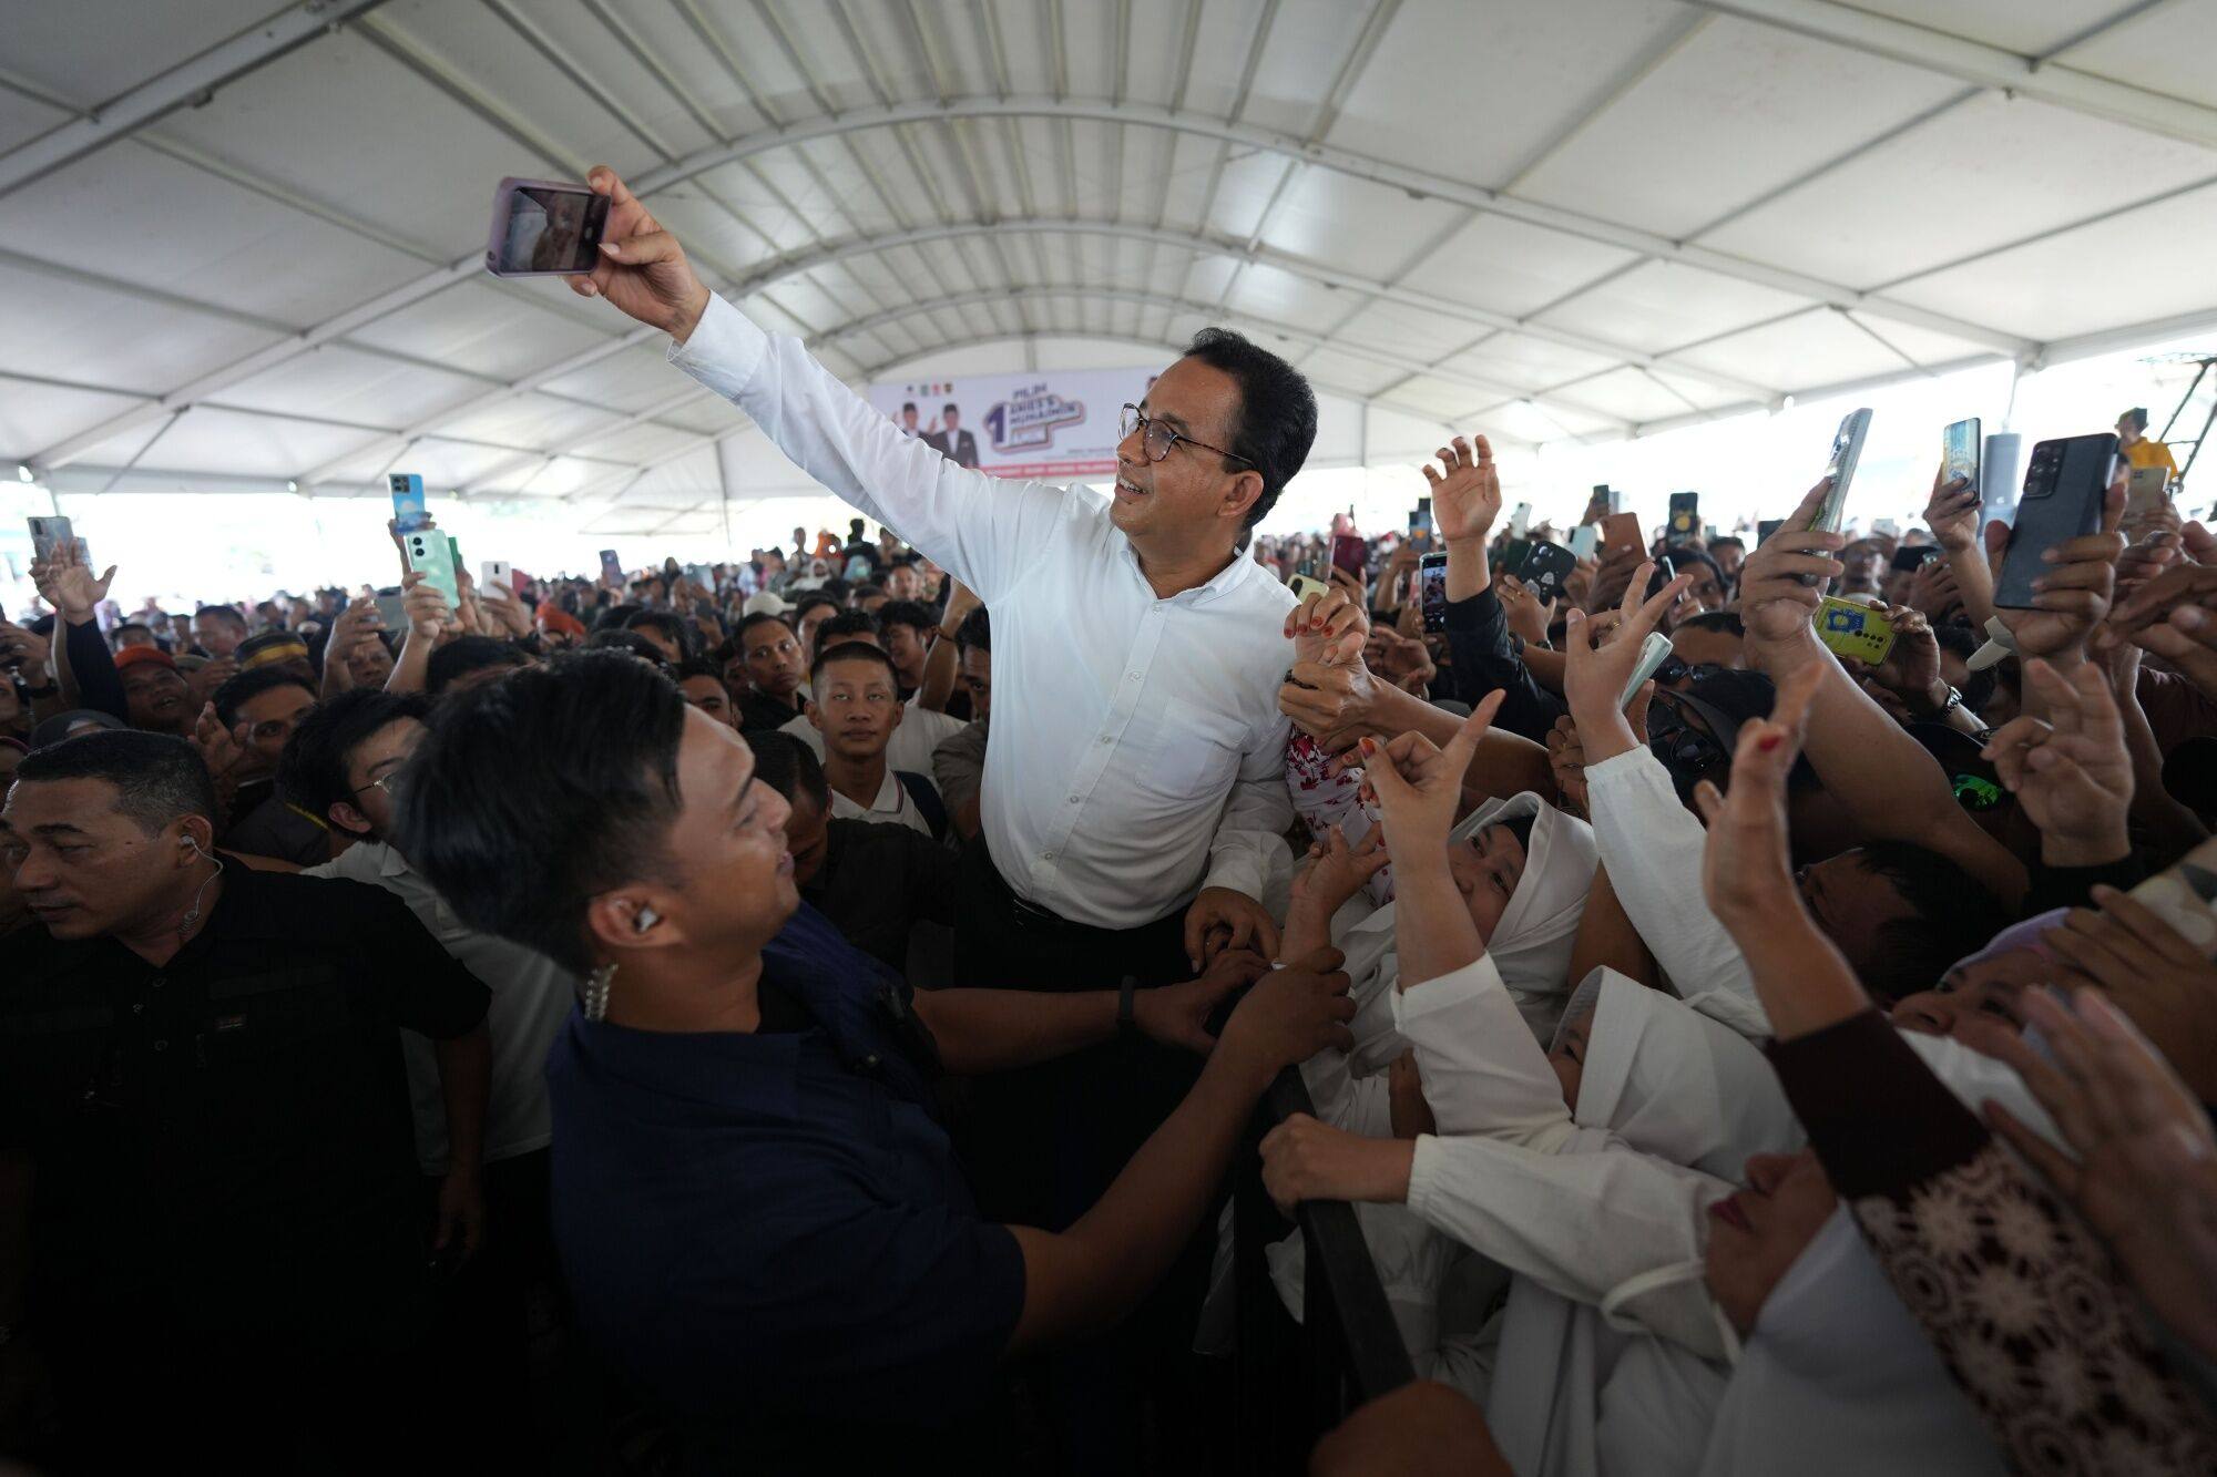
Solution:
[[[1352,1016],[1330,951],[1151,991],[909,996],[800,905],[785,812],[729,725],[623,654],[463,696],[401,785],[408,856],[463,920],[590,980],[548,1065],[579,1324],[734,1457],[960,1428],[1004,1355],[1120,1320],[1213,1202],[1261,1089]],[[1257,976],[1210,1040],[1213,1007]],[[1208,1051],[1193,1091],[1069,1231],[982,1220],[931,1073],[1120,1031]]]

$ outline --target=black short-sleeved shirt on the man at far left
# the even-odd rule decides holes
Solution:
[[[33,1160],[33,1322],[399,1346],[423,1244],[399,1029],[490,1000],[388,892],[224,867],[155,967],[7,943],[0,1147]]]

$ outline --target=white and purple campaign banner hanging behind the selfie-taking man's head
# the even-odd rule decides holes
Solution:
[[[942,457],[993,477],[1084,481],[1115,475],[1117,419],[1155,375],[1038,370],[869,386],[869,404]]]

